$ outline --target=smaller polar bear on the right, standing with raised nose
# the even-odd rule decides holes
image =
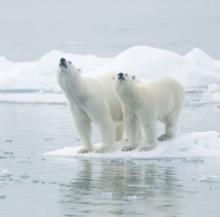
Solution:
[[[124,113],[128,145],[122,151],[137,147],[137,134],[142,127],[146,151],[156,146],[156,121],[165,124],[165,134],[160,141],[175,135],[177,121],[184,104],[185,92],[181,84],[172,78],[163,78],[149,84],[135,80],[134,76],[118,73],[113,83]]]

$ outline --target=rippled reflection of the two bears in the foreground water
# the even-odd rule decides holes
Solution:
[[[64,216],[175,216],[182,186],[173,167],[146,161],[79,160],[60,187]],[[76,173],[74,173],[76,174]]]

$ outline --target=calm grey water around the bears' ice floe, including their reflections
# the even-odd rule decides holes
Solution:
[[[187,106],[181,131],[220,130],[219,111]],[[2,103],[0,114],[2,217],[219,216],[220,159],[45,157],[79,145],[67,106]]]

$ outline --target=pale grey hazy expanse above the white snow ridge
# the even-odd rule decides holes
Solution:
[[[112,56],[134,45],[220,58],[219,0],[0,0],[0,56]]]

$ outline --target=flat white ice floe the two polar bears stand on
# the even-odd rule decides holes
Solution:
[[[100,144],[96,144],[97,148]],[[220,157],[220,134],[216,131],[193,132],[178,135],[166,142],[160,142],[158,146],[147,152],[138,149],[130,152],[122,152],[123,144],[115,145],[111,153],[97,154],[77,153],[79,146],[65,147],[55,151],[44,153],[47,156],[73,157],[73,158],[109,158],[109,159],[160,159],[160,158],[205,158]]]

